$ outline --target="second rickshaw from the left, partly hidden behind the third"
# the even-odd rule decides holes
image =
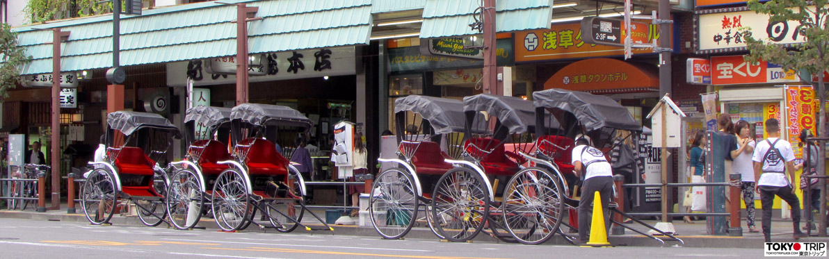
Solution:
[[[230,168],[218,163],[232,159],[225,144],[230,137],[230,108],[201,105],[189,108],[184,128],[185,141],[190,146],[183,161],[171,163],[177,170],[170,177],[165,196],[167,217],[178,229],[196,226],[207,211],[204,205],[211,200],[216,177]],[[197,133],[201,136],[196,136]]]

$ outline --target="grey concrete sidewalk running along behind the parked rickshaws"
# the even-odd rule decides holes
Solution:
[[[62,208],[66,208],[65,204]],[[78,223],[87,223],[87,219],[85,215],[82,213],[82,210],[78,208],[79,213],[65,213],[65,209],[63,210],[50,210],[46,213],[37,213],[34,210],[28,209],[25,211],[20,210],[0,210],[0,218],[22,218],[22,219],[31,219],[31,220],[41,220],[41,221],[63,221],[63,222],[78,222]],[[314,209],[314,212],[317,213],[321,218],[324,218],[325,212],[322,209]],[[303,223],[308,223],[312,225],[317,225],[315,223],[314,218],[310,218],[310,216],[306,216],[303,218]],[[650,224],[656,224],[656,221],[647,220],[645,221]],[[757,223],[760,222],[760,219],[757,219]],[[129,216],[122,216],[122,215],[114,215],[113,218],[110,220],[110,223],[114,225],[142,225],[142,223],[138,220],[137,217],[129,217]],[[425,226],[425,223],[418,223],[415,224],[415,227],[412,228],[410,233],[406,235],[406,237],[413,237],[413,238],[435,238],[434,234],[429,230],[428,227]],[[670,241],[669,238],[663,238],[665,240],[665,246],[683,246],[683,247],[739,247],[739,248],[762,248],[763,245],[763,233],[749,233],[748,228],[745,227],[745,223],[743,223],[744,233],[742,237],[728,237],[728,236],[711,236],[706,233],[705,230],[705,221],[696,221],[695,223],[682,223],[681,221],[675,221],[673,223],[674,228],[676,229],[676,237],[679,237],[684,241],[684,244],[680,244],[679,242]],[[804,225],[804,223],[801,223]],[[166,224],[162,224],[156,228],[165,228]],[[642,232],[647,232],[648,228],[639,225],[637,223],[628,224],[631,228],[637,229]],[[209,217],[202,217],[198,227],[205,228],[211,231],[215,231],[218,229],[216,223],[213,221],[212,218]],[[343,225],[336,225],[332,226],[334,228],[334,232],[327,232],[327,231],[313,231],[308,232],[303,229],[297,229],[291,234],[333,234],[333,235],[345,235],[345,236],[367,236],[367,237],[378,237],[380,236],[376,233],[374,228],[371,227],[359,227],[359,226],[343,226]],[[150,228],[150,227],[148,227]],[[758,226],[759,228],[759,226]],[[197,231],[197,230],[196,230]],[[255,225],[251,225],[250,228],[247,228],[245,232],[266,232],[266,233],[274,233],[279,234],[275,230],[269,228],[257,228]],[[776,218],[773,220],[772,223],[772,240],[775,242],[792,242],[794,239],[792,238],[793,228],[792,222],[790,219],[780,219]],[[817,236],[817,231],[812,231],[812,234]],[[615,246],[640,246],[640,247],[659,247],[662,246],[661,242],[657,242],[649,237],[644,237],[633,231],[626,230],[624,235],[609,235],[608,241]],[[800,241],[804,242],[829,242],[829,237],[807,237],[802,238]],[[474,239],[473,242],[502,242],[498,240],[496,237],[492,237],[487,233],[481,233]],[[545,244],[560,244],[560,245],[569,245],[570,243],[566,242],[563,237],[560,235],[555,235],[550,241],[545,242]]]

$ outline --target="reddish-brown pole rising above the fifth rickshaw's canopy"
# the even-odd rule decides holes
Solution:
[[[495,63],[495,1],[483,1],[483,93],[497,94]]]

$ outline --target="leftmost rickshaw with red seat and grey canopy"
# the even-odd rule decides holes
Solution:
[[[107,115],[105,161],[91,161],[95,169],[80,189],[81,207],[90,223],[109,223],[124,200],[135,204],[138,218],[158,226],[166,214],[167,174],[159,162],[166,158],[173,138],[181,133],[156,113],[119,111]]]

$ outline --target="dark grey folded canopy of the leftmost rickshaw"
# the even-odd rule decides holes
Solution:
[[[128,111],[118,111],[109,113],[106,117],[106,122],[110,128],[118,130],[124,135],[132,135],[133,132],[141,128],[156,128],[167,130],[173,133],[173,137],[181,138],[176,125],[172,125],[167,118],[162,117],[156,113],[138,113]]]

